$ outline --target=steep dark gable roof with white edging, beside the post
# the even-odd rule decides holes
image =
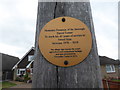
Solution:
[[[13,67],[13,69],[15,69],[15,67],[17,68],[26,68],[27,65],[31,62],[28,61],[28,56],[29,55],[34,55],[34,47],[32,47],[21,59],[20,61]]]

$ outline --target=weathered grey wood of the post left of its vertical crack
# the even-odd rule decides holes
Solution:
[[[54,19],[56,3],[38,3],[38,16],[35,40],[35,62],[33,69],[33,88],[57,88],[56,66],[48,63],[38,47],[40,30],[50,20]]]

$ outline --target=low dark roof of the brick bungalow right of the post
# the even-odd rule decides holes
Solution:
[[[106,56],[99,56],[99,59],[100,59],[100,65],[106,65],[106,64],[118,65],[118,64],[120,64],[119,60],[114,60],[114,59],[108,58]]]

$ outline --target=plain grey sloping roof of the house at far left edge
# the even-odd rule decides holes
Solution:
[[[0,53],[2,61],[2,70],[12,70],[13,66],[20,60],[18,57]]]

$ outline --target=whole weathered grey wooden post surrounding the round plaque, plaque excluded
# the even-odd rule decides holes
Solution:
[[[38,37],[44,25],[57,17],[69,16],[84,22],[92,33],[88,57],[72,67],[57,67],[41,54]],[[89,2],[39,2],[35,40],[33,88],[102,88],[99,57]]]

